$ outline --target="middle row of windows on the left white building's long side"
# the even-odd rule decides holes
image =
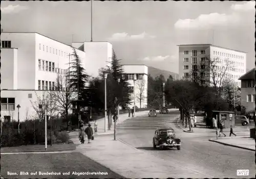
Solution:
[[[59,74],[67,74],[68,72],[68,70],[66,69],[55,68],[54,62],[41,60],[41,59],[38,59],[38,69],[42,71],[50,71],[50,72],[55,72]]]

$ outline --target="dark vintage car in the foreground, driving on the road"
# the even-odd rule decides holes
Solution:
[[[154,148],[159,147],[160,149],[163,149],[176,147],[178,150],[180,150],[180,146],[180,138],[175,137],[173,128],[161,128],[155,131],[155,136],[153,137]]]

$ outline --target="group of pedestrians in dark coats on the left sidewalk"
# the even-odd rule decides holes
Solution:
[[[98,124],[96,121],[95,121],[95,123],[96,123],[96,125],[94,125],[94,131],[97,132]],[[80,142],[82,144],[84,144],[84,142],[86,141],[86,136],[87,136],[88,143],[91,143],[91,140],[94,140],[93,129],[92,129],[91,124],[89,123],[87,127],[84,127],[82,120],[79,120],[79,124],[80,124],[80,126],[79,126],[80,127],[80,130],[79,130]]]

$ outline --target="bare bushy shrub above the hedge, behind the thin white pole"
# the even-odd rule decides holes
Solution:
[[[44,91],[41,96],[39,96],[36,92],[36,100],[30,100],[32,108],[35,110],[36,118],[42,120],[47,110],[48,114],[52,115],[57,110],[55,101],[53,100],[52,94],[48,91]],[[41,109],[39,106],[41,105]]]

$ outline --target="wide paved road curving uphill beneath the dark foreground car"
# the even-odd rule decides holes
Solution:
[[[124,124],[118,126],[118,138],[137,149],[150,152],[158,158],[175,161],[177,166],[197,171],[204,177],[249,178],[255,176],[254,151],[210,142],[208,139],[215,137],[213,132],[206,132],[204,136],[196,133],[184,133],[176,127],[175,116],[177,114],[178,112],[172,112],[171,114],[158,114],[157,117],[143,116],[127,119]],[[154,129],[165,125],[172,126],[177,137],[181,138],[181,150],[153,148]],[[166,177],[172,177],[172,166],[169,167],[170,175]],[[249,169],[250,175],[237,176],[238,169]],[[180,177],[182,177],[182,173]],[[198,176],[191,176],[191,178],[194,177]]]

